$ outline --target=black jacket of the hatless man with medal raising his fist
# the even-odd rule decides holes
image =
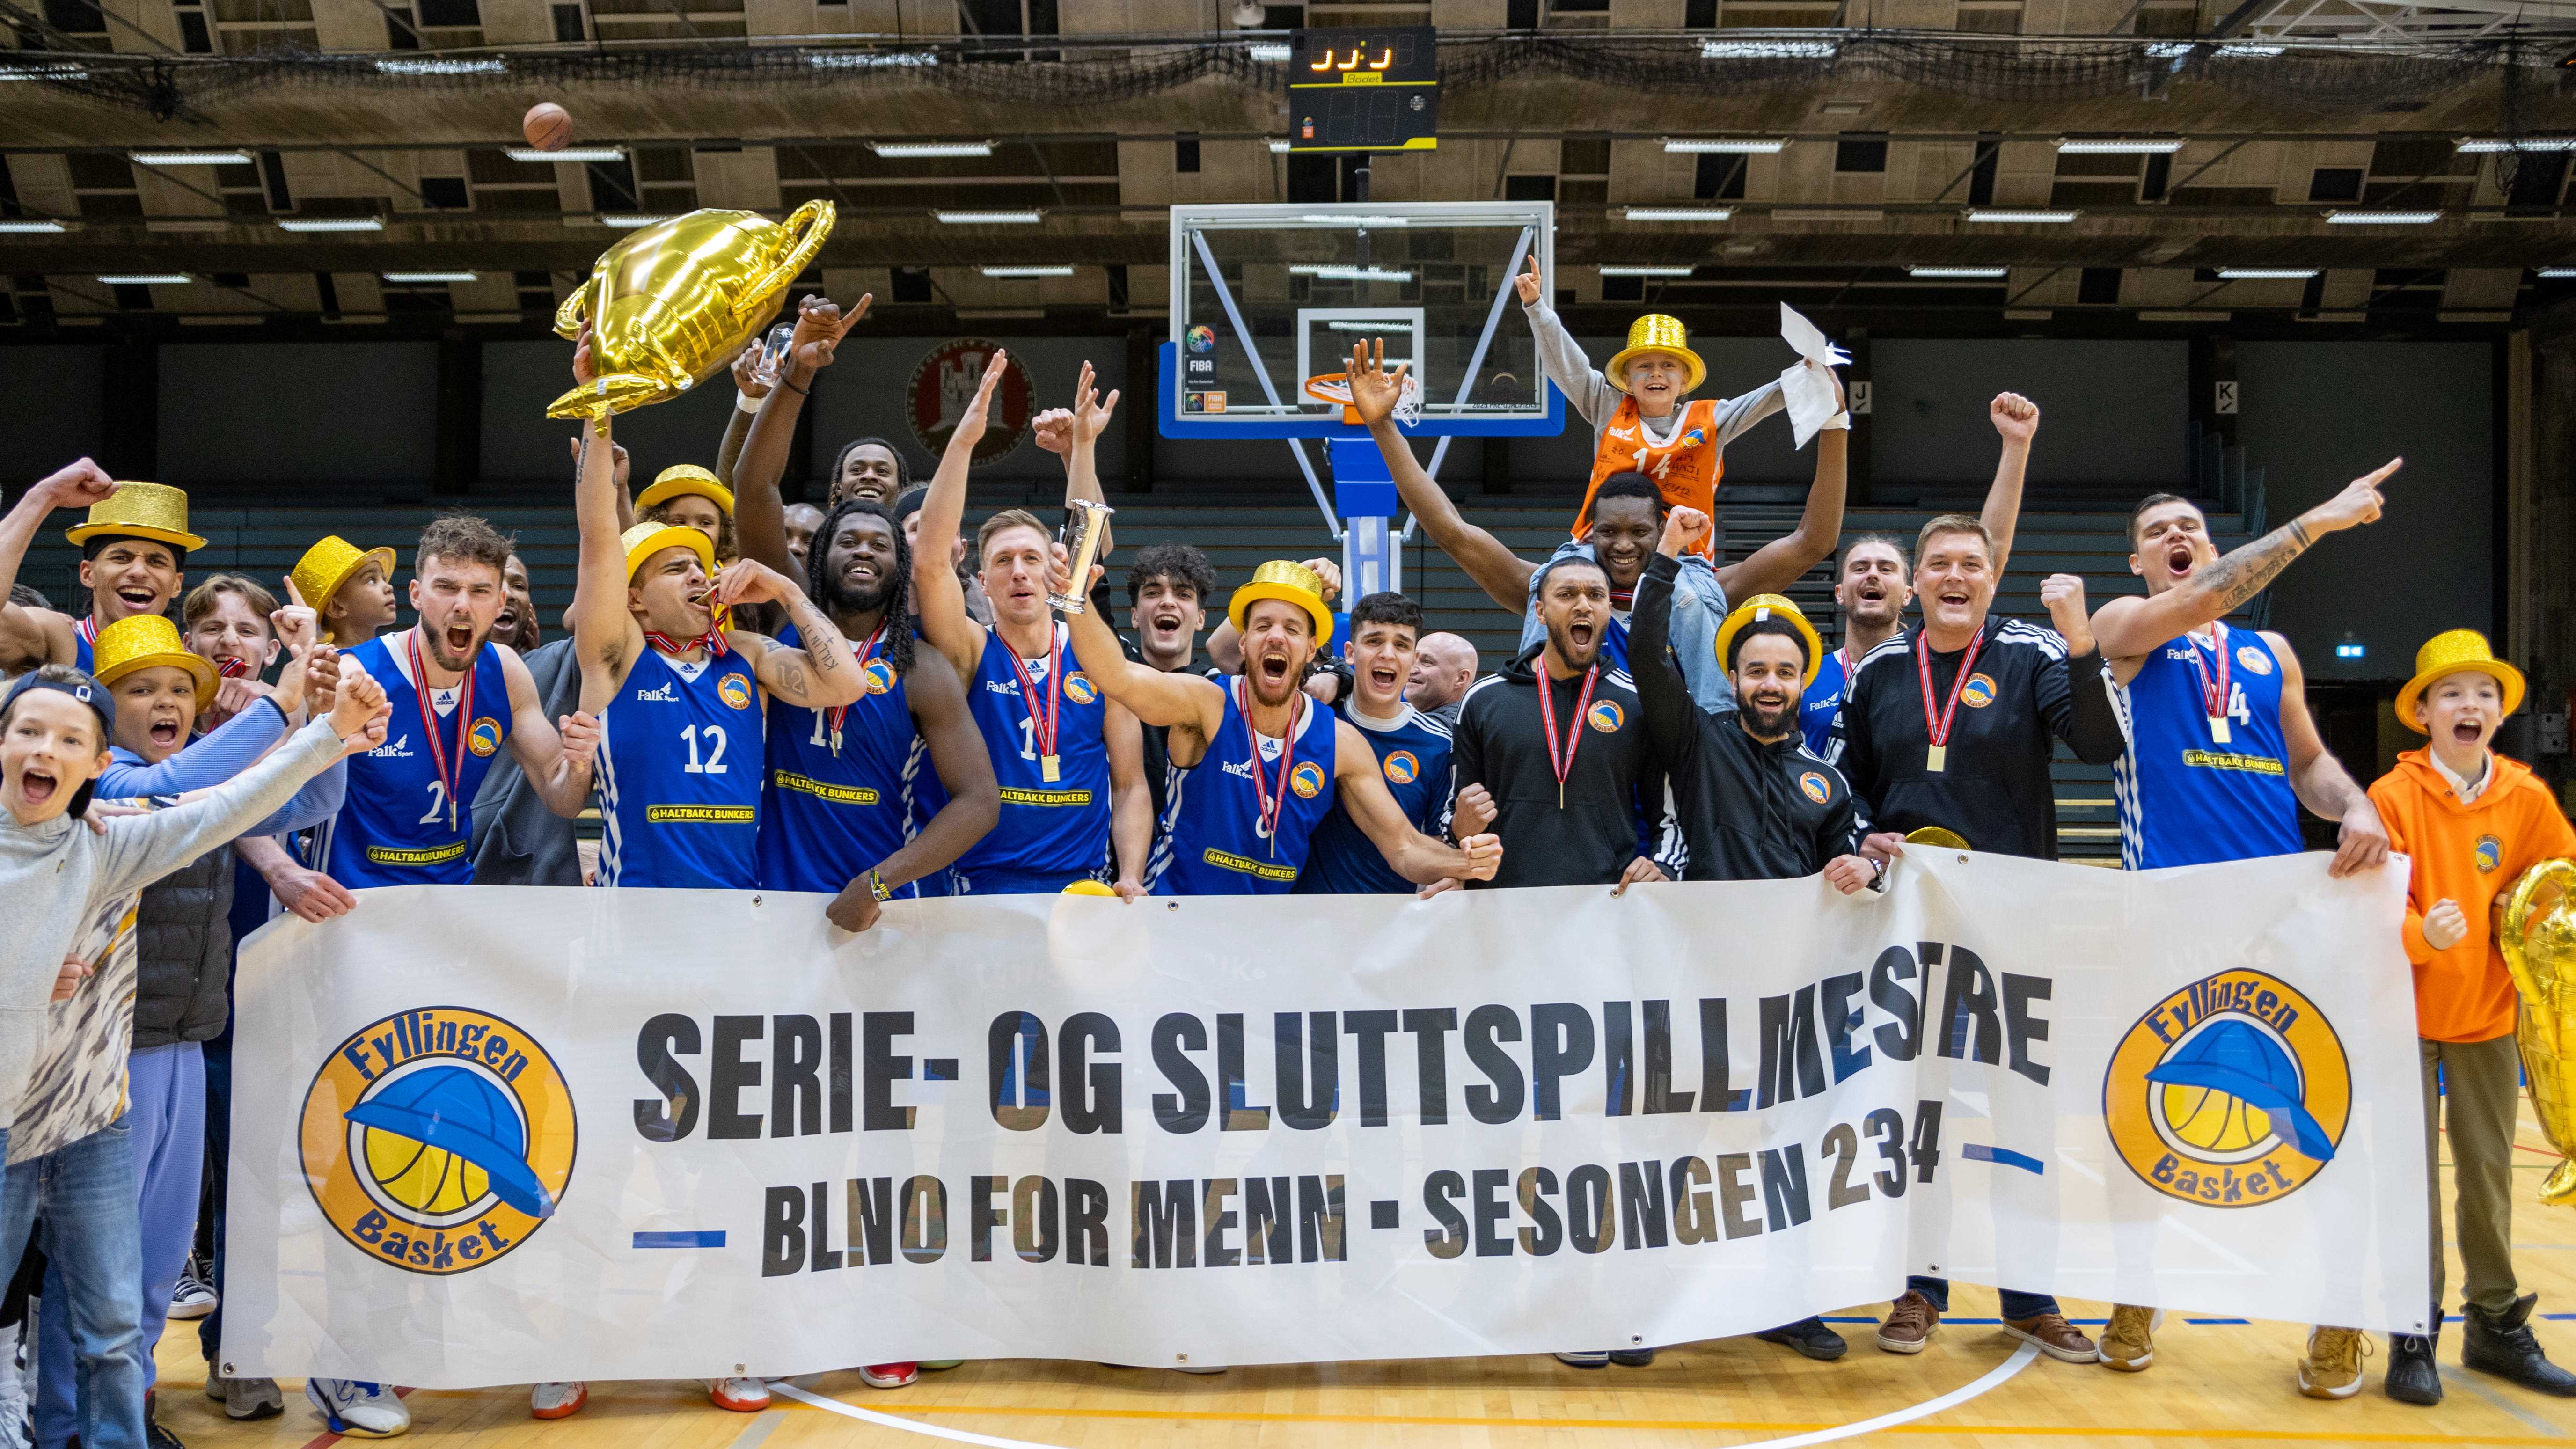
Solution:
[[[2069,660],[2056,629],[2020,619],[1989,616],[1981,637],[1976,676],[1986,683],[1971,676],[1960,694],[1942,771],[1924,768],[1932,732],[1906,629],[1860,660],[1852,701],[1842,706],[1842,773],[1875,830],[1942,825],[1976,851],[2053,861],[2058,802],[2048,761],[2058,740],[2089,766],[2107,766],[2128,748],[2102,655]],[[1935,712],[1950,699],[1963,657],[1965,650],[1929,655]]]

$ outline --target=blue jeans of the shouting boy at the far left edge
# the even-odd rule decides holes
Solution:
[[[0,1189],[0,1261],[15,1263],[44,1225],[44,1320],[70,1330],[77,1395],[70,1426],[82,1449],[142,1449],[144,1348],[137,1289],[144,1276],[134,1207],[134,1137],[124,1116],[44,1158],[18,1163]],[[57,1276],[59,1274],[59,1276]],[[59,1446],[59,1439],[39,1444]]]

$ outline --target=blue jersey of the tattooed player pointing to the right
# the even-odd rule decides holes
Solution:
[[[2218,647],[2228,652],[2226,737],[2215,737],[2202,694],[2202,670],[2218,676],[2213,650],[2187,634],[2148,652],[2117,691],[2128,753],[2110,779],[2120,864],[2133,871],[2300,851],[2280,657],[2254,629],[2221,629]]]

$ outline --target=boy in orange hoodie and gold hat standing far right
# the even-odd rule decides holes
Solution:
[[[2424,1060],[2424,1152],[2432,1186],[2432,1336],[2401,1333],[2388,1356],[2388,1397],[2439,1403],[2434,1341],[2442,1325],[2442,1111],[2458,1178],[2463,1284],[2460,1364],[2527,1390],[2576,1397],[2576,1374],[2550,1364],[2532,1338],[2540,1294],[2517,1297],[2512,1253],[2514,1111],[2522,1057],[2514,1049],[2514,982],[2496,951],[2494,908],[2530,866],[2576,856],[2576,830],[2519,761],[2488,750],[2522,706],[2522,673],[2476,629],[2434,634],[2398,691],[2398,719],[2432,735],[2370,786],[2388,848],[2414,859],[2406,884],[2406,959],[2416,977],[2416,1036]],[[2439,1067],[2439,1088],[2434,1070]],[[2342,1333],[2342,1330],[2318,1330]],[[2354,1379],[2360,1372],[2354,1361]]]

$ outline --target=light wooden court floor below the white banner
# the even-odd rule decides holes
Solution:
[[[2514,1266],[2540,1292],[2540,1343],[2576,1364],[2576,1212],[2532,1196],[2555,1155],[2524,1104],[2514,1173]],[[2447,1163],[2445,1163],[2447,1168]],[[2447,1171],[2445,1171],[2447,1183]],[[2450,1281],[2460,1281],[2452,1258]],[[2442,1336],[2439,1408],[2380,1392],[2388,1346],[2365,1361],[2367,1387],[2342,1403],[2298,1395],[2303,1325],[2169,1320],[2156,1366],[2115,1374],[2050,1359],[2012,1366],[1994,1294],[1958,1284],[1955,1318],[1911,1359],[1880,1354],[1870,1325],[1883,1305],[1850,1310],[1834,1328],[1852,1351],[1834,1364],[1731,1338],[1664,1348],[1649,1369],[1569,1369],[1556,1359],[1414,1359],[1301,1364],[1190,1377],[1061,1361],[984,1361],[922,1374],[878,1392],[858,1374],[799,1379],[817,1403],[788,1397],[760,1415],[724,1413],[696,1385],[603,1385],[569,1421],[528,1418],[528,1390],[412,1392],[410,1444],[443,1449],[799,1449],[809,1444],[907,1446],[933,1441],[1041,1446],[1370,1446],[1370,1449],[1592,1449],[1847,1444],[2576,1444],[2576,1400],[2555,1400],[2460,1369],[2460,1330]],[[2458,1307],[2458,1305],[2452,1305]],[[2069,1302],[2076,1320],[2105,1305]],[[1963,1323],[1984,1318],[1986,1323]],[[286,1415],[229,1423],[206,1400],[193,1325],[173,1325],[160,1354],[160,1421],[191,1449],[307,1449],[330,1444],[319,1415],[286,1385]],[[1981,1379],[1991,1382],[1976,1392]],[[1968,1392],[1960,1392],[1968,1390]],[[1909,1415],[1958,1395],[1935,1413]],[[1880,1415],[1901,1423],[1865,1428]]]

